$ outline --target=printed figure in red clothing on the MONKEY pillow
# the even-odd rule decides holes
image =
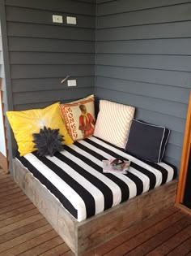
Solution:
[[[85,105],[79,106],[82,114],[79,116],[79,130],[82,131],[83,137],[90,137],[94,133],[95,119],[90,113],[87,113],[87,107]]]

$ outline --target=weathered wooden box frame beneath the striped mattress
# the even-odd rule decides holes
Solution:
[[[75,255],[84,254],[143,219],[155,215],[159,210],[172,206],[176,199],[177,181],[173,180],[90,219],[78,222],[16,159],[13,160],[13,170],[15,181],[20,188],[62,236]]]

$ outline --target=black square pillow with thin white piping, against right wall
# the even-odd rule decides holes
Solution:
[[[153,163],[161,162],[170,131],[162,126],[133,119],[125,151]]]

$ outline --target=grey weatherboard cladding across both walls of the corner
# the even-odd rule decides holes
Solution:
[[[191,88],[189,2],[0,0],[6,110],[93,93],[96,53],[96,96],[136,106],[138,118],[170,128],[166,159],[179,166]],[[53,24],[53,14],[65,23]],[[66,25],[66,15],[78,25]],[[77,88],[60,85],[67,75]]]

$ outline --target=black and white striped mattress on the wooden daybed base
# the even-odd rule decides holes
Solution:
[[[33,152],[17,158],[78,221],[176,177],[176,170],[167,163],[143,162],[96,137],[65,146],[53,157]],[[128,173],[103,173],[102,160],[110,158],[129,159]]]

